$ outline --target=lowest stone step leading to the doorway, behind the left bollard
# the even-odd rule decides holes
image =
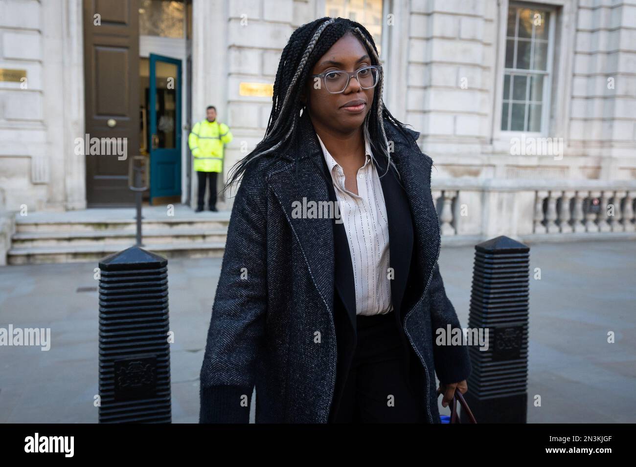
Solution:
[[[11,248],[7,254],[7,262],[18,264],[45,264],[60,262],[95,262],[97,263],[113,253],[125,250],[134,245],[104,244],[104,245],[71,245],[56,247],[26,247]],[[170,258],[212,258],[223,257],[225,241],[201,241],[181,243],[144,243],[141,248]]]

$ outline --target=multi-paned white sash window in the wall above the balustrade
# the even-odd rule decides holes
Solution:
[[[553,12],[511,4],[501,130],[543,132],[549,115]]]

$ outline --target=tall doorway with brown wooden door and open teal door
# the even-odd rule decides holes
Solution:
[[[144,204],[188,203],[191,0],[83,6],[85,133],[126,141],[128,156],[85,155],[87,205],[134,205],[128,175],[137,154],[148,158]]]

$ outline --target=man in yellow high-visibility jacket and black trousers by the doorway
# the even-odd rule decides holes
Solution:
[[[205,109],[206,119],[195,123],[188,145],[195,159],[194,169],[198,176],[197,212],[204,209],[206,180],[210,180],[208,205],[211,211],[216,208],[216,174],[223,171],[223,145],[232,141],[232,133],[225,123],[216,120],[216,107],[209,105]]]

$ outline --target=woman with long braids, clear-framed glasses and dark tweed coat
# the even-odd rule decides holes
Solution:
[[[257,423],[439,423],[438,393],[446,407],[466,392],[466,346],[433,345],[459,320],[432,161],[382,83],[373,38],[344,18],[299,27],[282,51],[265,138],[228,180],[241,177],[200,422],[246,423],[254,385]]]

